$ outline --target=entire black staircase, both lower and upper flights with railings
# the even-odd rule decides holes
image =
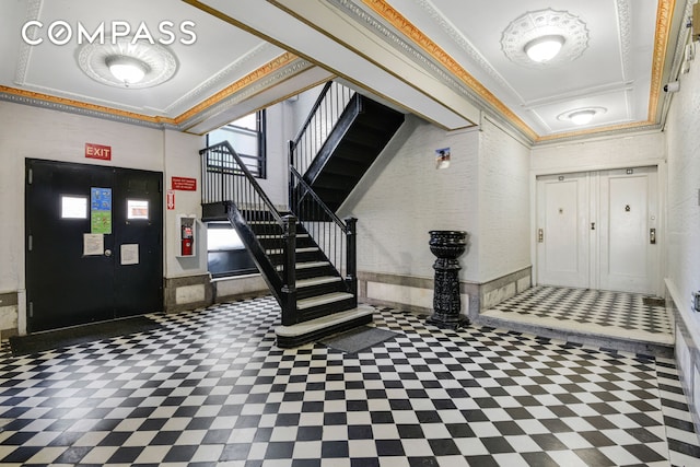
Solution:
[[[229,142],[200,151],[202,219],[228,219],[246,245],[282,310],[278,347],[371,323],[373,310],[358,306],[357,220],[335,212],[402,120],[326,84],[290,142],[289,211],[272,205]]]

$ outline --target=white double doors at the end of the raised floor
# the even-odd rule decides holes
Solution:
[[[537,179],[537,282],[656,294],[655,167]]]

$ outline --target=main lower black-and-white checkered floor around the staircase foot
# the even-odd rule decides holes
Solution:
[[[160,329],[0,355],[0,464],[241,467],[691,466],[673,360],[458,331],[382,308],[400,332],[357,355],[281,350],[270,297]]]

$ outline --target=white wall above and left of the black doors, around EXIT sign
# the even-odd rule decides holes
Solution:
[[[112,161],[85,159],[85,142],[112,147]],[[0,292],[24,289],[25,159],[163,171],[163,132],[0,102]]]

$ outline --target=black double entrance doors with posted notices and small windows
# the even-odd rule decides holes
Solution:
[[[30,332],[161,311],[163,175],[26,161]]]

